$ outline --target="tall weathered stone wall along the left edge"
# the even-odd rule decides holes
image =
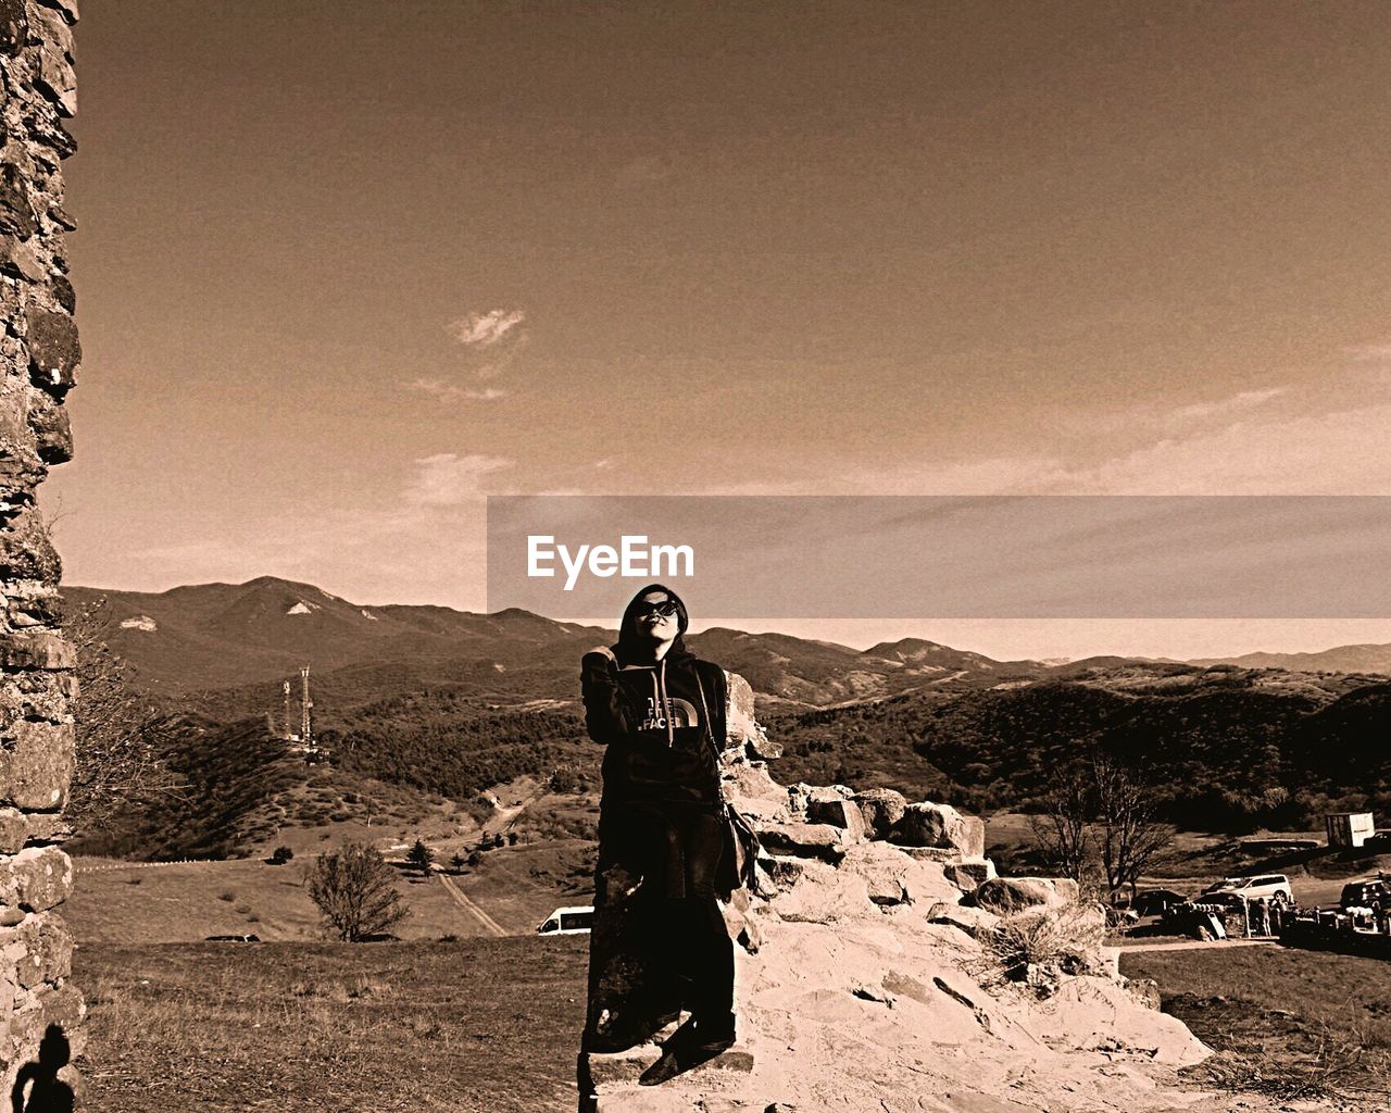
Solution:
[[[63,399],[81,348],[60,167],[75,150],[63,120],[77,109],[77,18],[71,0],[0,0],[0,1098],[32,1080],[36,1102],[75,1085],[85,1011],[57,911],[72,886],[57,843],[74,652],[58,630],[58,556],[33,505],[49,466],[72,455]]]

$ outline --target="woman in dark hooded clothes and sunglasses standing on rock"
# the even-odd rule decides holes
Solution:
[[[679,1009],[690,1020],[644,1084],[734,1042],[734,952],[716,903],[727,680],[686,648],[687,625],[676,593],[651,584],[623,611],[618,643],[583,659],[584,723],[606,751],[581,1094],[588,1052],[634,1046]]]

